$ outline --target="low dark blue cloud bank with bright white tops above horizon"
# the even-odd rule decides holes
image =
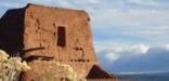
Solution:
[[[155,72],[168,70],[169,44],[109,44],[98,52],[102,66],[112,72]],[[112,46],[109,46],[109,45]],[[118,45],[119,44],[119,45]],[[105,45],[107,45],[106,49]],[[106,63],[106,64],[105,64]],[[113,68],[113,69],[112,69]]]

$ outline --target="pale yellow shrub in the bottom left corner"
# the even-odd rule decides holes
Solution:
[[[0,50],[0,81],[17,81],[20,73],[28,69],[30,67],[21,57],[10,57]]]

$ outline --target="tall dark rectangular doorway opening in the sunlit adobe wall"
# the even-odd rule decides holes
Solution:
[[[65,27],[58,26],[57,28],[57,45],[65,46],[66,45],[66,30]]]

